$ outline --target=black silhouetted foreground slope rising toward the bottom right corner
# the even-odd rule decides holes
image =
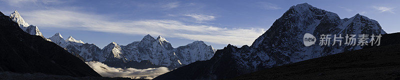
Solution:
[[[230,80],[399,80],[400,33],[368,47],[245,74]]]

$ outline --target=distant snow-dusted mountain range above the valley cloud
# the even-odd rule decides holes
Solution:
[[[98,61],[117,68],[157,68],[175,69],[195,61],[210,59],[214,49],[202,41],[173,48],[171,44],[158,36],[156,39],[146,35],[140,41],[126,46],[111,42],[100,49],[94,44],[83,43],[71,36],[67,40],[56,33],[48,38],[72,54],[78,54],[84,61]]]

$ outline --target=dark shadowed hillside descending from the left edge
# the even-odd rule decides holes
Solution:
[[[58,45],[24,32],[15,20],[0,12],[0,72],[101,77]]]

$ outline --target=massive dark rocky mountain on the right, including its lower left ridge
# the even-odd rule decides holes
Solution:
[[[342,37],[346,34],[386,34],[377,21],[360,14],[340,19],[336,13],[302,3],[291,6],[251,46],[244,45],[237,48],[228,45],[222,50],[217,50],[210,60],[180,67],[156,77],[155,80],[227,79],[265,68],[363,47],[343,45],[344,39],[341,46],[320,46],[316,41],[315,45],[306,47],[302,40],[305,33],[312,34],[317,38],[322,34],[341,34]]]

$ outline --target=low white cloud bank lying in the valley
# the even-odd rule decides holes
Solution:
[[[94,71],[100,74],[103,77],[123,77],[123,78],[131,78],[131,79],[153,79],[159,75],[169,72],[168,68],[159,67],[159,68],[148,68],[148,69],[121,69],[121,68],[112,68],[100,62],[85,62],[90,66]]]

